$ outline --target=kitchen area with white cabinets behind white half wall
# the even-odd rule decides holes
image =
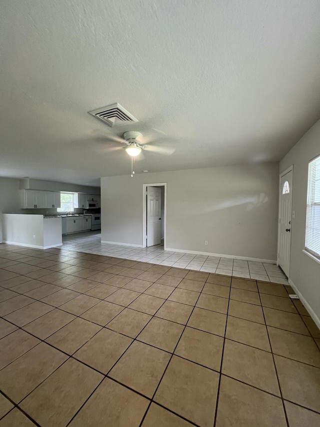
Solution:
[[[48,249],[62,235],[101,229],[99,194],[21,189],[19,198],[21,213],[2,214],[4,243]]]

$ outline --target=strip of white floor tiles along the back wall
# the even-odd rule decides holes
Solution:
[[[142,249],[132,246],[101,243],[100,240],[101,234],[99,231],[69,234],[62,238],[63,248],[69,250],[114,256],[134,261],[150,262],[152,264],[170,267],[187,268],[190,270],[205,271],[207,273],[217,273],[226,276],[233,275],[247,279],[271,281],[273,283],[288,283],[286,276],[275,264],[198,255],[195,253],[165,251],[163,245]]]

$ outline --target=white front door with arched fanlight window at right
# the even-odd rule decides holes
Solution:
[[[292,170],[280,180],[278,264],[286,276],[290,272],[291,214]]]

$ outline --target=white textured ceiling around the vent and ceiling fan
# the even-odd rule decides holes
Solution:
[[[108,142],[127,130],[175,148],[136,173],[278,161],[319,118],[319,16],[318,0],[3,0],[0,175],[127,174]],[[87,113],[114,102],[139,123]]]

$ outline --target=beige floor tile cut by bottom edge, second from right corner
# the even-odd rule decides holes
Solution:
[[[216,427],[286,427],[280,398],[221,376]]]

